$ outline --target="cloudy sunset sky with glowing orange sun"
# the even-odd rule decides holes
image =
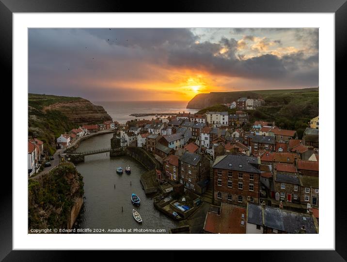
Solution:
[[[29,93],[93,101],[318,86],[315,28],[29,29]]]

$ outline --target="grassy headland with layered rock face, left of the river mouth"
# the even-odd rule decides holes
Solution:
[[[112,120],[102,106],[84,98],[29,94],[28,135],[36,137],[55,151],[55,139],[62,133],[84,124]]]

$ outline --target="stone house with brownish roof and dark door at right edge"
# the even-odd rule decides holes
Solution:
[[[300,202],[318,207],[319,178],[311,176],[299,176],[300,180]]]

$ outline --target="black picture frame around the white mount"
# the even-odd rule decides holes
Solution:
[[[335,79],[343,79],[344,58],[347,48],[346,0],[175,0],[173,5],[164,1],[107,1],[107,0],[0,0],[0,35],[2,79],[12,85],[12,13],[37,12],[276,12],[276,13],[335,13]],[[168,7],[166,7],[168,6]],[[169,7],[170,6],[170,7]],[[344,64],[343,64],[344,63]],[[346,85],[346,83],[344,82]],[[341,87],[342,88],[342,87]],[[335,90],[332,90],[334,92]],[[337,118],[336,118],[337,119]],[[331,141],[331,145],[335,145]],[[331,148],[334,150],[334,148]],[[333,151],[331,152],[333,153]],[[345,173],[345,172],[344,172]],[[331,174],[325,174],[331,176]],[[335,250],[332,251],[246,251],[248,259],[266,261],[346,261],[347,260],[347,214],[345,197],[345,174],[335,177]],[[331,176],[332,177],[332,176]],[[0,190],[0,260],[4,261],[63,261],[76,257],[76,251],[12,251],[12,178],[3,172]],[[10,186],[11,185],[11,186]],[[333,196],[332,196],[333,197]],[[334,230],[333,228],[331,230]],[[141,248],[141,247],[140,247]],[[269,248],[271,248],[269,243]],[[221,251],[219,251],[221,252]],[[242,251],[236,251],[242,252]],[[242,255],[245,251],[243,251]],[[175,253],[177,254],[177,253]],[[120,254],[116,258],[122,258]],[[173,254],[174,255],[174,254]],[[87,257],[88,256],[88,257]],[[84,258],[83,258],[84,257]],[[90,252],[79,252],[76,259],[90,257]],[[159,256],[160,257],[160,256]],[[171,256],[173,258],[173,256]],[[161,258],[162,260],[162,258]]]

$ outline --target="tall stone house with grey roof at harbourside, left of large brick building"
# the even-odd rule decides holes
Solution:
[[[204,155],[185,152],[179,158],[180,183],[196,193],[203,194],[205,182],[209,178],[209,165],[209,160]]]

